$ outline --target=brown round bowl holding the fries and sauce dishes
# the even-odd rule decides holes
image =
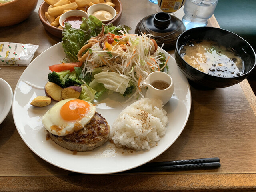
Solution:
[[[114,18],[112,21],[110,21],[106,25],[113,23],[114,26],[118,26],[118,24],[120,23],[121,16],[122,16],[122,10],[123,10],[122,3],[120,0],[112,0],[112,3],[114,3],[116,5],[115,9],[118,12],[118,14],[116,15],[116,18]],[[44,25],[44,28],[50,34],[52,34],[58,38],[62,38],[62,29],[60,29],[58,27],[51,26],[50,23],[46,20],[46,18],[44,16],[48,7],[49,7],[49,5],[46,2],[42,2],[42,4],[39,7],[39,10],[38,10],[39,18],[40,18],[42,24]]]

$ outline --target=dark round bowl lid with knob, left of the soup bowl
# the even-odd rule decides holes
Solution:
[[[137,34],[152,34],[158,46],[165,49],[175,48],[178,36],[186,30],[181,20],[165,12],[159,12],[144,17],[137,24],[135,32]]]

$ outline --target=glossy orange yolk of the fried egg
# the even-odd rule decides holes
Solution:
[[[73,121],[85,116],[90,110],[90,104],[84,100],[74,99],[66,102],[60,109],[60,116],[63,120]]]

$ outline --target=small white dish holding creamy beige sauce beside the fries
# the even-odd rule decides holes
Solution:
[[[97,11],[107,11],[110,14],[112,14],[112,18],[110,18],[108,20],[102,20],[102,23],[104,23],[104,24],[110,22],[111,20],[113,20],[116,17],[116,10],[112,6],[110,6],[108,4],[102,4],[102,3],[98,3],[98,4],[94,4],[94,5],[90,6],[87,10],[87,13],[89,15],[93,15]]]

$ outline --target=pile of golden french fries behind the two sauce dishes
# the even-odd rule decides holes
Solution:
[[[45,12],[45,18],[54,27],[61,28],[59,24],[60,16],[69,10],[83,10],[86,12],[88,6],[92,6],[97,3],[108,4],[115,7],[112,0],[44,0],[48,5],[48,10]]]

